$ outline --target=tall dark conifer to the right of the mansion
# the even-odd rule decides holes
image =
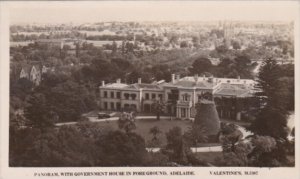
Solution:
[[[256,95],[259,99],[264,99],[265,103],[259,107],[250,129],[259,135],[286,139],[288,95],[284,90],[286,86],[279,80],[280,72],[280,66],[273,59],[267,59],[260,69],[257,84],[260,92]]]

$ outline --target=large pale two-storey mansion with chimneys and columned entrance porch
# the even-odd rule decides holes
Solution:
[[[178,118],[192,118],[195,105],[201,100],[214,100],[220,117],[241,119],[241,113],[254,94],[255,81],[251,79],[214,78],[172,74],[171,82],[164,80],[151,84],[115,83],[99,87],[99,106],[103,110],[136,110],[151,113],[152,104],[161,100],[166,104],[165,113]]]

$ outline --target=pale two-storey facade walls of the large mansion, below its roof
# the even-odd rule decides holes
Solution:
[[[218,87],[218,84],[216,84]],[[170,94],[173,90],[176,92],[178,91],[178,99],[169,99]],[[151,89],[130,89],[130,88],[118,88],[118,89],[111,89],[105,88],[105,86],[100,87],[100,100],[99,105],[101,109],[104,110],[124,110],[132,107],[137,112],[153,112],[152,111],[152,104],[154,100],[159,100],[159,96],[161,96],[162,100],[166,103],[166,110],[165,113],[177,117],[182,118],[190,118],[194,117],[196,114],[195,106],[199,102],[199,99],[207,99],[207,100],[214,100],[214,88],[211,89],[201,89],[201,88],[183,88],[183,87],[176,87],[176,86],[164,86],[162,90],[151,90]],[[107,93],[105,96],[104,93]],[[114,93],[112,96],[111,93]],[[120,97],[117,97],[117,92],[120,93]],[[174,92],[174,91],[173,91]],[[135,98],[132,97],[135,95]],[[185,96],[188,95],[189,97],[186,98]],[[128,97],[126,97],[128,96]],[[173,100],[173,101],[171,101]],[[113,105],[111,105],[113,103]],[[117,104],[119,104],[119,109],[117,109]],[[240,119],[240,111],[236,110],[238,105],[234,105],[235,108],[231,105],[229,108],[228,106],[224,106],[221,104],[216,104],[217,110],[221,117]],[[228,108],[228,109],[227,109]]]

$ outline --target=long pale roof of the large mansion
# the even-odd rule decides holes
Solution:
[[[164,88],[179,89],[209,89],[216,96],[249,97],[253,95],[255,81],[251,79],[235,78],[213,78],[213,77],[183,77],[169,83],[134,83],[125,84],[120,80],[116,83],[109,83],[101,88],[115,88],[120,90],[153,90],[163,91]]]

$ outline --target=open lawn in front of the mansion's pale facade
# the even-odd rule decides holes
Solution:
[[[152,139],[152,134],[149,133],[149,130],[154,126],[157,126],[162,131],[162,133],[160,133],[157,137],[161,141],[161,144],[165,145],[167,142],[165,135],[166,132],[176,126],[181,127],[182,131],[184,132],[188,129],[189,126],[191,126],[192,122],[182,120],[170,121],[168,119],[161,119],[159,121],[157,121],[156,119],[137,119],[135,124],[136,129],[134,130],[134,132],[141,135],[145,139],[146,144]],[[110,128],[112,130],[118,129],[118,121],[97,122],[95,123],[95,125]]]

